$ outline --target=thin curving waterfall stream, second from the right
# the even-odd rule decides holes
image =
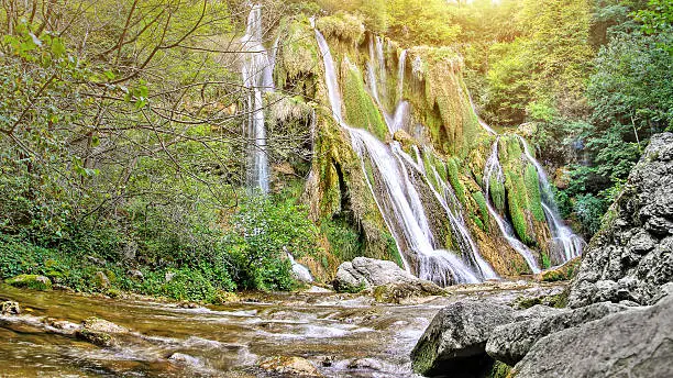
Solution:
[[[526,263],[528,267],[532,270],[532,273],[540,273],[540,267],[536,262],[533,252],[530,251],[521,241],[519,241],[514,232],[514,227],[507,220],[505,220],[500,214],[493,208],[490,203],[490,178],[495,174],[496,180],[498,182],[504,182],[503,167],[500,166],[500,159],[498,158],[498,142],[500,137],[496,137],[496,141],[493,143],[493,147],[490,149],[490,156],[486,160],[486,166],[484,167],[484,197],[486,198],[486,208],[488,209],[488,213],[496,221],[498,229],[500,229],[500,233],[505,236],[507,243],[519,254]]]

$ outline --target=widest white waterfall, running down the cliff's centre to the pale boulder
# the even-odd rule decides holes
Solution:
[[[478,282],[481,279],[477,275],[457,256],[449,251],[434,248],[434,236],[421,197],[411,180],[412,176],[402,162],[404,152],[399,144],[394,142],[387,146],[367,131],[353,129],[343,122],[332,54],[324,36],[318,30],[316,30],[316,40],[323,57],[332,115],[351,136],[351,143],[361,160],[367,186],[386,225],[396,240],[398,249],[402,253],[402,263],[407,270],[409,270],[409,265],[404,258],[404,251],[399,248],[399,240],[404,240],[409,252],[413,253],[418,263],[417,274],[420,278],[442,286],[453,282]],[[380,45],[383,47],[383,44]],[[372,63],[374,62],[380,63],[378,59]],[[374,87],[371,86],[371,89],[374,90]],[[374,174],[373,178],[369,178],[367,174],[367,164]]]

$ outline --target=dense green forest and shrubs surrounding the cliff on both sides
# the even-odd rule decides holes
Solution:
[[[585,236],[648,138],[673,127],[668,0],[263,4],[268,44],[302,12],[457,48],[481,116],[528,133]],[[0,1],[1,277],[209,301],[294,287],[286,253],[320,255],[329,230],[302,205],[304,173],[268,197],[244,188],[249,11],[233,0]],[[269,138],[272,160],[310,165],[306,132]],[[97,281],[100,262],[111,284]]]

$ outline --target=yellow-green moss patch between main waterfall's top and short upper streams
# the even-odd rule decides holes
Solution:
[[[388,127],[372,97],[365,91],[362,74],[350,67],[343,88],[345,121],[354,127],[368,130],[379,140],[385,140]]]

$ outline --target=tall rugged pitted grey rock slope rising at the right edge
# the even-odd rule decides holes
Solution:
[[[673,134],[652,137],[584,253],[570,305],[650,304],[673,281]]]

